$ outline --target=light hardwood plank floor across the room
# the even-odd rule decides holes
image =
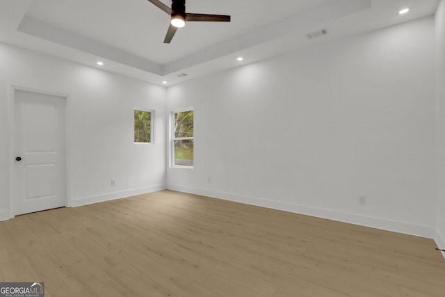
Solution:
[[[444,297],[432,239],[161,191],[0,222],[0,281],[46,296]]]

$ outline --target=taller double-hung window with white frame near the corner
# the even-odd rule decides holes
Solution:
[[[193,167],[193,109],[172,112],[172,166]]]

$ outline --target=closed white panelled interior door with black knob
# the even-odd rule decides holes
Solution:
[[[65,98],[15,90],[15,215],[63,207]]]

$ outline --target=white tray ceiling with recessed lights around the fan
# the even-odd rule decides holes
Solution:
[[[170,6],[170,0],[161,0]],[[164,44],[170,17],[147,0],[3,0],[0,41],[167,86],[300,47],[432,15],[438,0],[187,0],[188,22]],[[411,8],[398,15],[401,8]],[[309,40],[307,33],[327,29]],[[244,61],[236,61],[243,56]],[[104,66],[96,65],[104,61]],[[186,77],[177,77],[185,73]]]

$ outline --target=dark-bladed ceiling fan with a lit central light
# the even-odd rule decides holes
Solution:
[[[164,43],[170,43],[178,28],[186,22],[230,22],[230,15],[206,15],[202,13],[186,13],[186,0],[172,0],[172,8],[159,0],[148,0],[171,15],[172,20],[165,35]]]

